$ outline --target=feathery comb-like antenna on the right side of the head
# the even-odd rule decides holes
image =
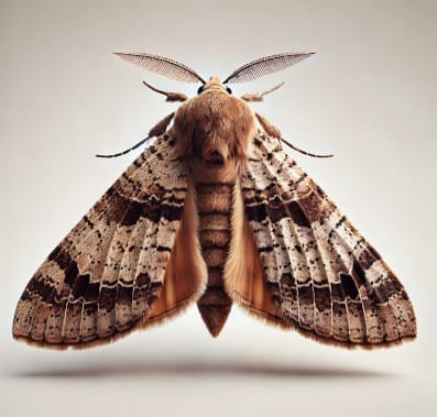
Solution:
[[[264,75],[288,68],[314,54],[315,52],[295,52],[264,56],[236,69],[223,84],[251,81]]]

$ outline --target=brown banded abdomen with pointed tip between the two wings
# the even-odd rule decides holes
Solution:
[[[201,255],[208,267],[206,290],[197,301],[208,330],[217,336],[231,309],[232,300],[223,286],[223,267],[231,238],[233,184],[196,184]]]

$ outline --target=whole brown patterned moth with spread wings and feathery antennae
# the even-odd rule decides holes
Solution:
[[[203,86],[188,99],[145,84],[183,105],[150,131],[155,142],[33,275],[15,310],[15,338],[86,348],[161,322],[192,303],[215,337],[232,303],[347,348],[416,336],[397,277],[282,150],[281,132],[248,106],[280,86],[242,98],[227,87],[310,53],[253,61],[222,83],[206,83],[161,56],[118,55]]]

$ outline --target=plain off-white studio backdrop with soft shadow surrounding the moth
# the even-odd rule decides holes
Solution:
[[[1,1],[2,416],[430,416],[436,405],[436,2]],[[112,52],[173,57],[203,77],[280,52],[317,51],[233,87],[285,86],[253,107],[378,249],[416,309],[418,339],[347,351],[233,308],[212,339],[193,307],[86,351],[12,340],[15,304],[43,259],[177,108],[145,89],[196,94]]]

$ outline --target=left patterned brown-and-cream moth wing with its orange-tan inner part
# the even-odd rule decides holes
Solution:
[[[48,255],[17,306],[15,338],[110,342],[196,297],[193,197],[173,142],[164,134],[148,147]]]

